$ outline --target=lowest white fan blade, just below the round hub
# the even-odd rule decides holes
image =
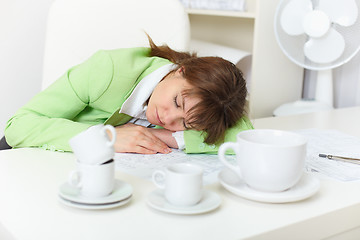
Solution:
[[[321,38],[311,38],[304,45],[305,56],[315,63],[330,63],[336,60],[345,49],[345,40],[334,29]]]

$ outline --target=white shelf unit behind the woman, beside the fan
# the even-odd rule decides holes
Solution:
[[[281,104],[299,100],[303,68],[279,48],[273,19],[279,0],[247,0],[246,12],[187,9],[194,39],[252,53],[250,118],[272,116]]]

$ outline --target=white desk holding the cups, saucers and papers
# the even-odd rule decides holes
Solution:
[[[336,128],[360,137],[360,107],[254,121],[256,128]],[[321,180],[320,191],[295,203],[242,199],[216,183],[223,199],[213,212],[182,216],[151,209],[150,182],[117,172],[134,187],[131,202],[110,210],[80,210],[57,200],[58,186],[74,168],[69,153],[40,149],[0,151],[0,225],[15,239],[356,239],[360,183]],[[0,229],[0,234],[2,233]],[[342,234],[341,237],[338,234]],[[349,237],[350,236],[350,237]],[[348,238],[346,238],[348,237]],[[0,239],[3,239],[0,236]]]

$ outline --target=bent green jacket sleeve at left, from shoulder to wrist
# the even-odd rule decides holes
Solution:
[[[93,125],[72,119],[103,94],[112,72],[111,59],[104,51],[69,69],[7,122],[9,145],[71,151],[68,140]]]

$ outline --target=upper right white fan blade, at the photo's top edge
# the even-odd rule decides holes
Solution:
[[[348,27],[358,18],[358,7],[355,0],[320,0],[319,10],[325,12],[330,20]]]

